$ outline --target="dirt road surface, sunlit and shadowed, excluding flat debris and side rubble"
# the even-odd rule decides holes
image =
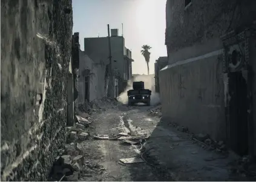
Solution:
[[[79,181],[225,181],[230,178],[234,156],[202,149],[189,134],[179,132],[148,114],[148,106],[128,108],[119,105],[94,113],[90,135],[128,133],[146,138],[131,145],[120,138],[80,143],[85,154],[85,168]],[[143,153],[145,152],[145,153]],[[143,155],[142,155],[143,154]],[[137,157],[142,163],[124,164],[121,158]]]

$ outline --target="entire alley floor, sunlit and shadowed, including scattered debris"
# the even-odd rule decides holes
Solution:
[[[232,162],[238,159],[237,155],[209,143],[207,148],[207,144],[192,140],[189,131],[161,122],[160,105],[131,107],[109,98],[102,100],[93,103],[91,115],[79,112],[79,120],[68,128],[67,144],[59,155],[64,163],[72,164],[78,150],[82,161],[73,164],[73,174],[63,167],[59,171],[57,161],[51,181],[59,181],[65,172],[69,174],[63,181],[234,180]],[[81,127],[81,123],[86,125]],[[81,132],[87,137],[81,138]]]

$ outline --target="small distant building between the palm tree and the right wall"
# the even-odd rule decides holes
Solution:
[[[159,59],[156,60],[155,62],[155,91],[157,93],[160,92],[159,88],[159,71],[162,70],[162,68],[166,67],[168,65],[168,57],[159,57]]]

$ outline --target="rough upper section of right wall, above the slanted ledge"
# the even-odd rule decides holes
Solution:
[[[185,1],[166,1],[165,42],[169,53],[220,37],[250,24],[256,1],[197,0],[185,9]]]

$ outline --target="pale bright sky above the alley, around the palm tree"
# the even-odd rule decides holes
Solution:
[[[108,36],[107,24],[119,29],[125,38],[125,47],[132,52],[133,74],[147,74],[146,62],[140,50],[150,45],[149,74],[154,63],[166,56],[165,46],[166,0],[73,0],[73,33],[79,32],[80,48],[84,37]]]

